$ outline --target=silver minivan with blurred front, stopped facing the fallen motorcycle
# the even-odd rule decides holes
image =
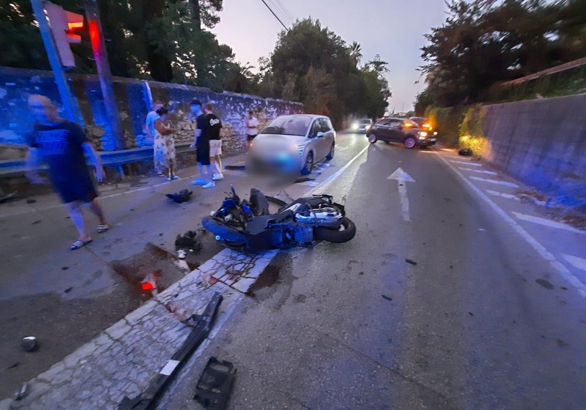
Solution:
[[[281,115],[254,138],[246,168],[308,175],[322,159],[333,158],[336,131],[324,115]]]

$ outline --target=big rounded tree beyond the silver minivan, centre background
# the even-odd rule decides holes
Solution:
[[[390,95],[380,58],[359,69],[361,47],[347,43],[319,20],[298,20],[283,30],[269,60],[260,63],[261,95],[301,101],[308,112],[328,113],[336,125],[350,113],[384,112]],[[374,116],[374,114],[373,114]]]

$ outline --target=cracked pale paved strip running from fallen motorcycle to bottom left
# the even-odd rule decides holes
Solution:
[[[216,326],[221,326],[241,300],[240,292],[248,291],[276,253],[219,252],[30,380],[28,397],[2,400],[0,409],[117,409],[124,395],[134,397],[147,387],[186,339],[190,329],[180,317],[200,313],[213,292],[220,292],[224,301]]]

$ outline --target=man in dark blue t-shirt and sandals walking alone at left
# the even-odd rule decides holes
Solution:
[[[64,121],[57,115],[53,102],[45,95],[31,95],[29,108],[35,116],[35,127],[29,135],[29,152],[26,157],[26,176],[32,183],[44,183],[39,176],[39,164],[44,160],[49,165],[49,179],[54,190],[67,207],[69,216],[79,231],[79,239],[71,244],[77,250],[92,241],[86,233],[80,204],[87,203],[100,219],[98,233],[108,230],[96,187],[87,169],[86,155],[96,166],[98,182],[104,179],[100,156],[87,141],[79,125]]]

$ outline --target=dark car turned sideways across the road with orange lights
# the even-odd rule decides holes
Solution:
[[[434,145],[437,139],[432,132],[421,129],[417,122],[404,118],[381,118],[366,132],[366,137],[370,143],[400,142],[405,148]]]

